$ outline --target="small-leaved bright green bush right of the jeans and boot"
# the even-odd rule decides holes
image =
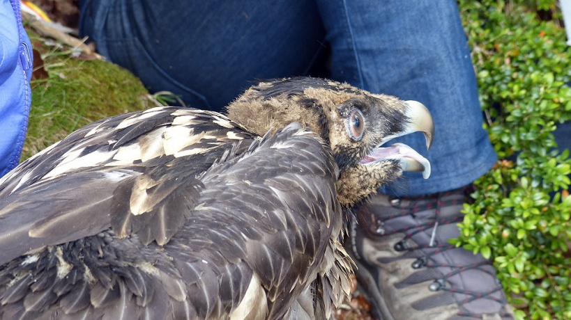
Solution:
[[[555,0],[459,0],[498,162],[453,240],[492,257],[517,319],[571,319],[571,59]],[[568,22],[571,23],[571,22]]]

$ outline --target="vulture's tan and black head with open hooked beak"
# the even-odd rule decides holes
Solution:
[[[263,81],[229,104],[231,120],[260,136],[299,122],[331,147],[340,168],[337,198],[352,206],[395,181],[402,171],[430,175],[430,163],[393,138],[421,131],[427,148],[434,124],[427,108],[415,101],[365,90],[326,79],[298,77]]]

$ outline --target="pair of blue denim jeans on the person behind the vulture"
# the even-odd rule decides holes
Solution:
[[[164,2],[164,3],[163,3]],[[181,2],[179,2],[181,3]],[[470,184],[496,160],[482,129],[478,89],[454,0],[171,1],[82,0],[80,33],[137,74],[151,91],[220,110],[256,79],[328,74],[373,93],[425,104],[436,126],[399,138],[432,163],[384,190],[422,195]],[[321,75],[321,74],[319,74]]]

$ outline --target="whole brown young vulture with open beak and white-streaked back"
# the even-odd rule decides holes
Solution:
[[[429,163],[418,102],[313,78],[227,115],[87,125],[0,179],[2,319],[326,319],[349,291],[351,205]]]

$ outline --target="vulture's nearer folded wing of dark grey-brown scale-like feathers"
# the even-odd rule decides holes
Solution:
[[[0,268],[0,312],[281,319],[342,224],[337,175],[328,147],[296,125],[234,147],[197,177],[199,195],[165,246],[106,230],[20,257]]]

